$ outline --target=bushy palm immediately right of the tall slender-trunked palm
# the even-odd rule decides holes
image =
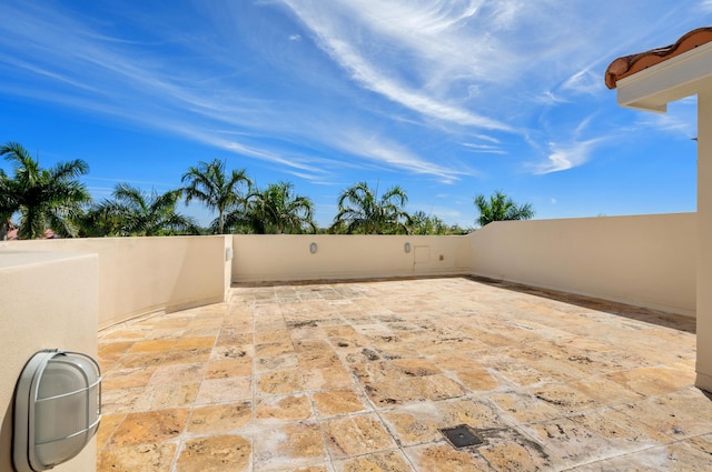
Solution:
[[[270,183],[249,198],[247,219],[257,234],[315,233],[314,203],[294,193],[290,182]]]

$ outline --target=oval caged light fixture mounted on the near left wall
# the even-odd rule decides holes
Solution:
[[[79,454],[101,421],[101,369],[79,352],[44,350],[14,392],[12,461],[18,472],[52,469]]]

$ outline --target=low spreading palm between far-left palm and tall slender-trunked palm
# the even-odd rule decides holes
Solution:
[[[158,194],[144,193],[128,183],[119,183],[113,201],[101,204],[101,211],[118,219],[120,235],[161,235],[171,232],[197,233],[195,221],[176,212],[180,190]]]

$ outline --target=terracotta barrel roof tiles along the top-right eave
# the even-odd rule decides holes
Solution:
[[[619,80],[710,41],[712,41],[712,27],[698,28],[684,34],[674,44],[617,58],[605,71],[605,84],[609,89],[615,89]]]

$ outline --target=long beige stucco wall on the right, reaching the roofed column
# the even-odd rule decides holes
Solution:
[[[695,314],[695,213],[496,222],[471,238],[475,275]]]

